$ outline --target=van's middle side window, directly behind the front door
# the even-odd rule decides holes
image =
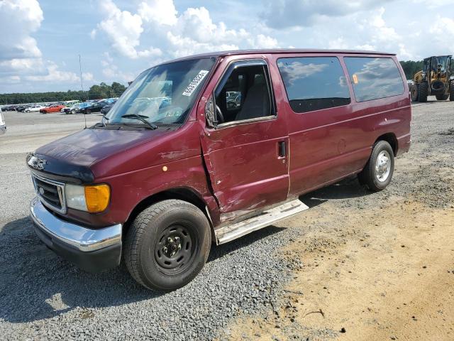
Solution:
[[[336,57],[279,58],[277,67],[294,112],[350,103],[347,81]]]

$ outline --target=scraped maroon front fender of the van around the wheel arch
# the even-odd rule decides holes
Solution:
[[[160,139],[97,161],[92,166],[94,182],[110,185],[109,208],[96,215],[68,210],[66,217],[95,227],[123,224],[142,200],[165,190],[184,188],[205,202],[211,219],[218,221],[218,206],[201,157],[199,130],[198,122],[189,121]]]

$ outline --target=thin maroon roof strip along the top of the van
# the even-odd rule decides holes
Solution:
[[[333,53],[333,54],[355,54],[355,55],[396,55],[395,53],[368,51],[368,50],[329,50],[329,49],[312,49],[312,48],[275,48],[275,49],[253,49],[253,50],[228,50],[210,53],[200,53],[198,55],[188,55],[187,57],[169,60],[162,64],[177,62],[181,60],[191,60],[199,58],[221,57],[226,55],[250,55],[256,53],[270,54],[294,54],[294,53]]]

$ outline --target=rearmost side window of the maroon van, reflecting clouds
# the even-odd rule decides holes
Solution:
[[[404,82],[392,58],[345,57],[357,102],[404,93]]]

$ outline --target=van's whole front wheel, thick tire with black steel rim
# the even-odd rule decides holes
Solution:
[[[208,220],[182,200],[164,200],[146,208],[126,234],[126,267],[145,288],[171,291],[199,274],[211,246]]]

